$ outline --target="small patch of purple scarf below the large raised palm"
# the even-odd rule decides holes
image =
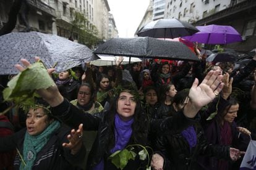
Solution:
[[[193,126],[187,127],[181,134],[187,140],[187,143],[189,143],[190,149],[197,145],[197,134]]]

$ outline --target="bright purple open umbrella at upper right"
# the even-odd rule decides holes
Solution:
[[[200,42],[205,44],[229,44],[232,42],[242,41],[241,35],[228,25],[207,25],[196,26],[199,32],[192,36],[184,36],[192,42]]]

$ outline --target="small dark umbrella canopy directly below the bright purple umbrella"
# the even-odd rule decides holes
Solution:
[[[220,52],[209,55],[206,59],[207,62],[235,62],[236,55],[228,52]]]

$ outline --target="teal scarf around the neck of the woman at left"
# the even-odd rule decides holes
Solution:
[[[32,169],[36,160],[36,155],[40,152],[41,148],[45,146],[51,135],[61,127],[59,121],[53,121],[49,126],[37,136],[31,136],[26,132],[23,142],[23,160],[26,165],[20,163],[20,169]]]

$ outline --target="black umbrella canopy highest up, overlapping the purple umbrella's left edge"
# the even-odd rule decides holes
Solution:
[[[199,30],[188,22],[172,19],[160,19],[143,26],[137,33],[138,36],[153,38],[177,38],[197,33]]]

